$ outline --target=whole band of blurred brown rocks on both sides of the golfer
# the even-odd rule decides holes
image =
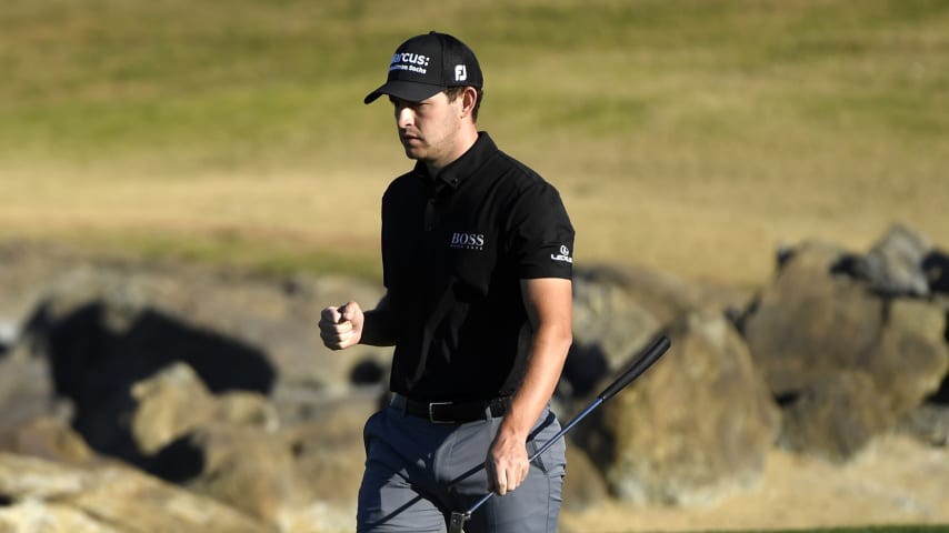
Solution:
[[[11,253],[0,531],[351,530],[390,352],[330,352],[314,323],[329,303],[371,305],[378,288],[36,258],[16,282]],[[803,242],[756,294],[578,266],[562,420],[656,335],[672,348],[568,435],[565,510],[716,505],[756,490],[773,446],[831,464],[891,431],[945,446],[945,257],[907,228],[866,254]]]

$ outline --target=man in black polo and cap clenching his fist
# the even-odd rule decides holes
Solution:
[[[386,295],[330,306],[327,346],[394,345],[388,409],[366,424],[359,532],[443,532],[488,491],[468,531],[553,532],[565,445],[549,401],[571,343],[573,229],[558,192],[476,127],[473,52],[431,32],[388,79],[414,169],[382,198]]]

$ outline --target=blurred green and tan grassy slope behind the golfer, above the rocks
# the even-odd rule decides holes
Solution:
[[[932,0],[9,0],[0,238],[378,272],[408,163],[361,97],[407,36],[478,51],[481,125],[558,185],[581,262],[757,285],[780,242],[949,247]]]

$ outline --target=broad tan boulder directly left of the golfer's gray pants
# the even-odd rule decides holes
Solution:
[[[267,416],[228,420],[217,410],[152,455],[149,466],[280,531],[351,529],[366,459],[362,426],[377,406],[374,398],[353,396],[322,405],[309,422],[276,430],[259,423]]]

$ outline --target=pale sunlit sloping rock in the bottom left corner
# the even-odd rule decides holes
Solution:
[[[91,469],[0,453],[0,531],[272,531],[212,499],[118,463]]]

